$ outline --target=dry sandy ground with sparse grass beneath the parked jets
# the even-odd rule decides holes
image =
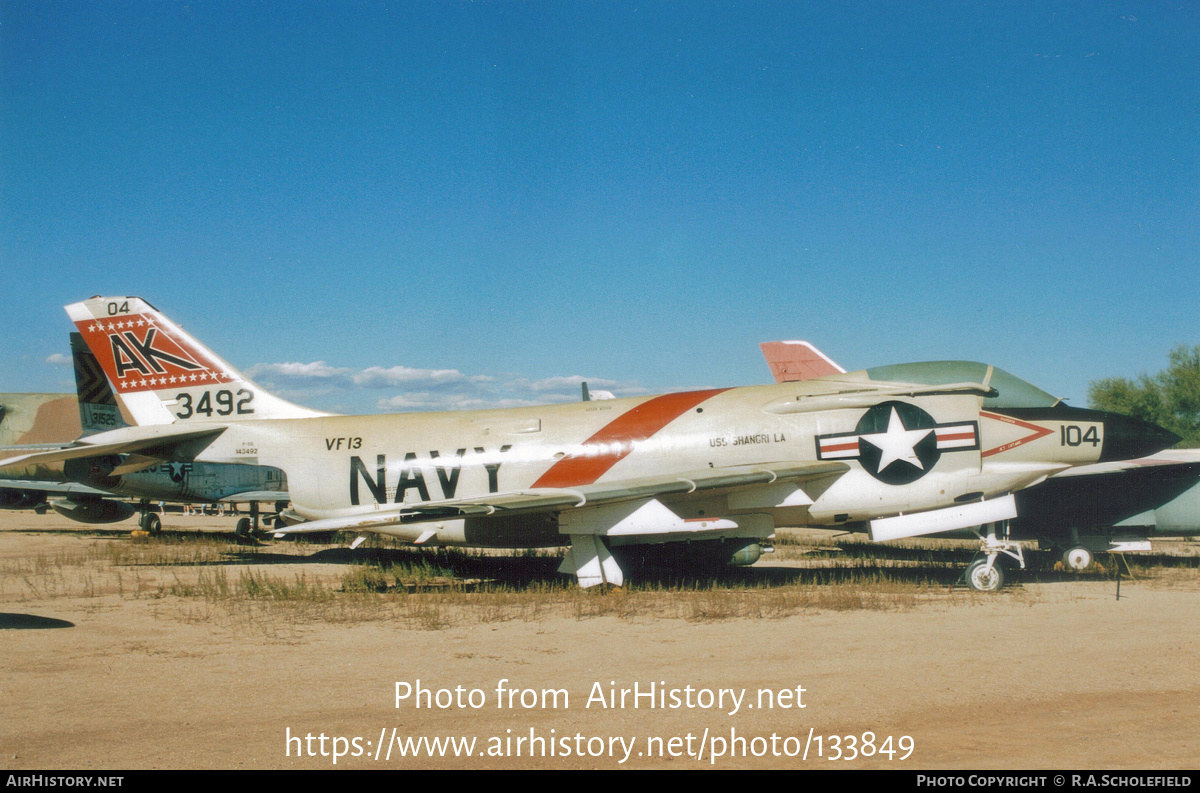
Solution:
[[[0,513],[0,768],[330,768],[335,750],[338,768],[1180,769],[1200,758],[1192,561],[1135,566],[1120,600],[1100,573],[978,594],[947,585],[961,551],[944,569],[878,566],[800,537],[715,583],[580,593],[545,571],[446,585],[420,563],[362,573],[367,547],[137,541],[131,528]],[[397,708],[397,683],[418,680],[434,693]],[[668,707],[629,696],[620,707],[635,684],[665,687],[654,704]],[[559,690],[557,703],[542,690]],[[612,690],[617,707],[604,707],[598,691],[611,705]],[[791,698],[768,707],[762,691]],[[475,740],[469,756],[401,757],[406,739],[451,737]]]

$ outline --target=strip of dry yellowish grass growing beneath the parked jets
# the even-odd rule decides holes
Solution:
[[[386,621],[439,630],[509,620],[785,619],[821,611],[911,611],[1030,601],[1021,587],[980,595],[953,584],[968,541],[871,545],[781,531],[760,564],[718,571],[629,572],[622,588],[580,589],[557,573],[558,551],[482,552],[398,546],[239,543],[230,535],[168,533],[139,542],[80,536],[76,547],[0,561],[0,602],[106,597],[155,601],[158,613],[234,632],[288,638],[325,623]],[[1129,557],[1136,578],[1163,576],[1156,555]],[[1164,585],[1195,585],[1200,557],[1174,554]],[[1115,566],[1084,573],[1114,576]],[[1076,573],[1022,573],[1020,581]],[[1128,573],[1126,573],[1128,575]],[[113,601],[108,601],[113,602]],[[91,606],[89,606],[91,607]]]

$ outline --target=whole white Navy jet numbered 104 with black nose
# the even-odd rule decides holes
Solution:
[[[1003,527],[1016,491],[1176,440],[966,361],[533,408],[330,415],[264,391],[139,298],[67,313],[139,426],[46,455],[272,465],[308,521],[281,533],[569,546],[560,571],[583,587],[622,584],[630,546],[688,542],[752,561],[780,524],[865,528],[874,540],[988,527],[968,579],[990,588],[998,554],[1014,552]]]

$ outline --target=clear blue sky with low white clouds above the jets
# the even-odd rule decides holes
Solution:
[[[343,411],[1200,342],[1184,2],[0,4],[0,391],[143,296]],[[52,360],[48,360],[52,359]]]

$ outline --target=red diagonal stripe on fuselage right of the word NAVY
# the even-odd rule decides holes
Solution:
[[[590,485],[624,459],[634,450],[635,443],[653,437],[662,427],[701,402],[727,390],[664,394],[647,399],[601,427],[599,432],[584,441],[582,453],[559,459],[533,486],[577,487]]]

